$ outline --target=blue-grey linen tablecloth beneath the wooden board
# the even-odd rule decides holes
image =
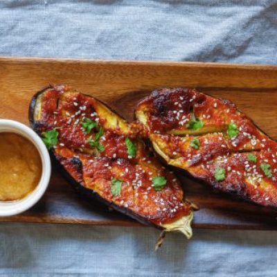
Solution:
[[[0,55],[276,64],[276,12],[274,0],[2,0]],[[169,234],[154,252],[158,233],[2,223],[0,276],[277,275],[274,231]]]

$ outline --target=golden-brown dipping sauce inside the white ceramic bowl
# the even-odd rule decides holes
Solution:
[[[35,145],[19,134],[0,132],[0,201],[26,197],[41,176],[42,159]]]

